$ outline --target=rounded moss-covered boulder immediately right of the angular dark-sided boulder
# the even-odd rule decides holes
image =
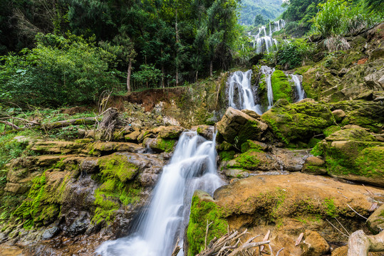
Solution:
[[[289,104],[284,99],[265,112],[261,120],[286,144],[295,141],[306,142],[335,122],[331,110],[324,103],[302,100]]]

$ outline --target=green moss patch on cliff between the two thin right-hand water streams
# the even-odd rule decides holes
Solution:
[[[292,102],[292,87],[288,78],[281,70],[275,70],[271,75],[272,90],[274,92],[274,100],[286,99]]]

